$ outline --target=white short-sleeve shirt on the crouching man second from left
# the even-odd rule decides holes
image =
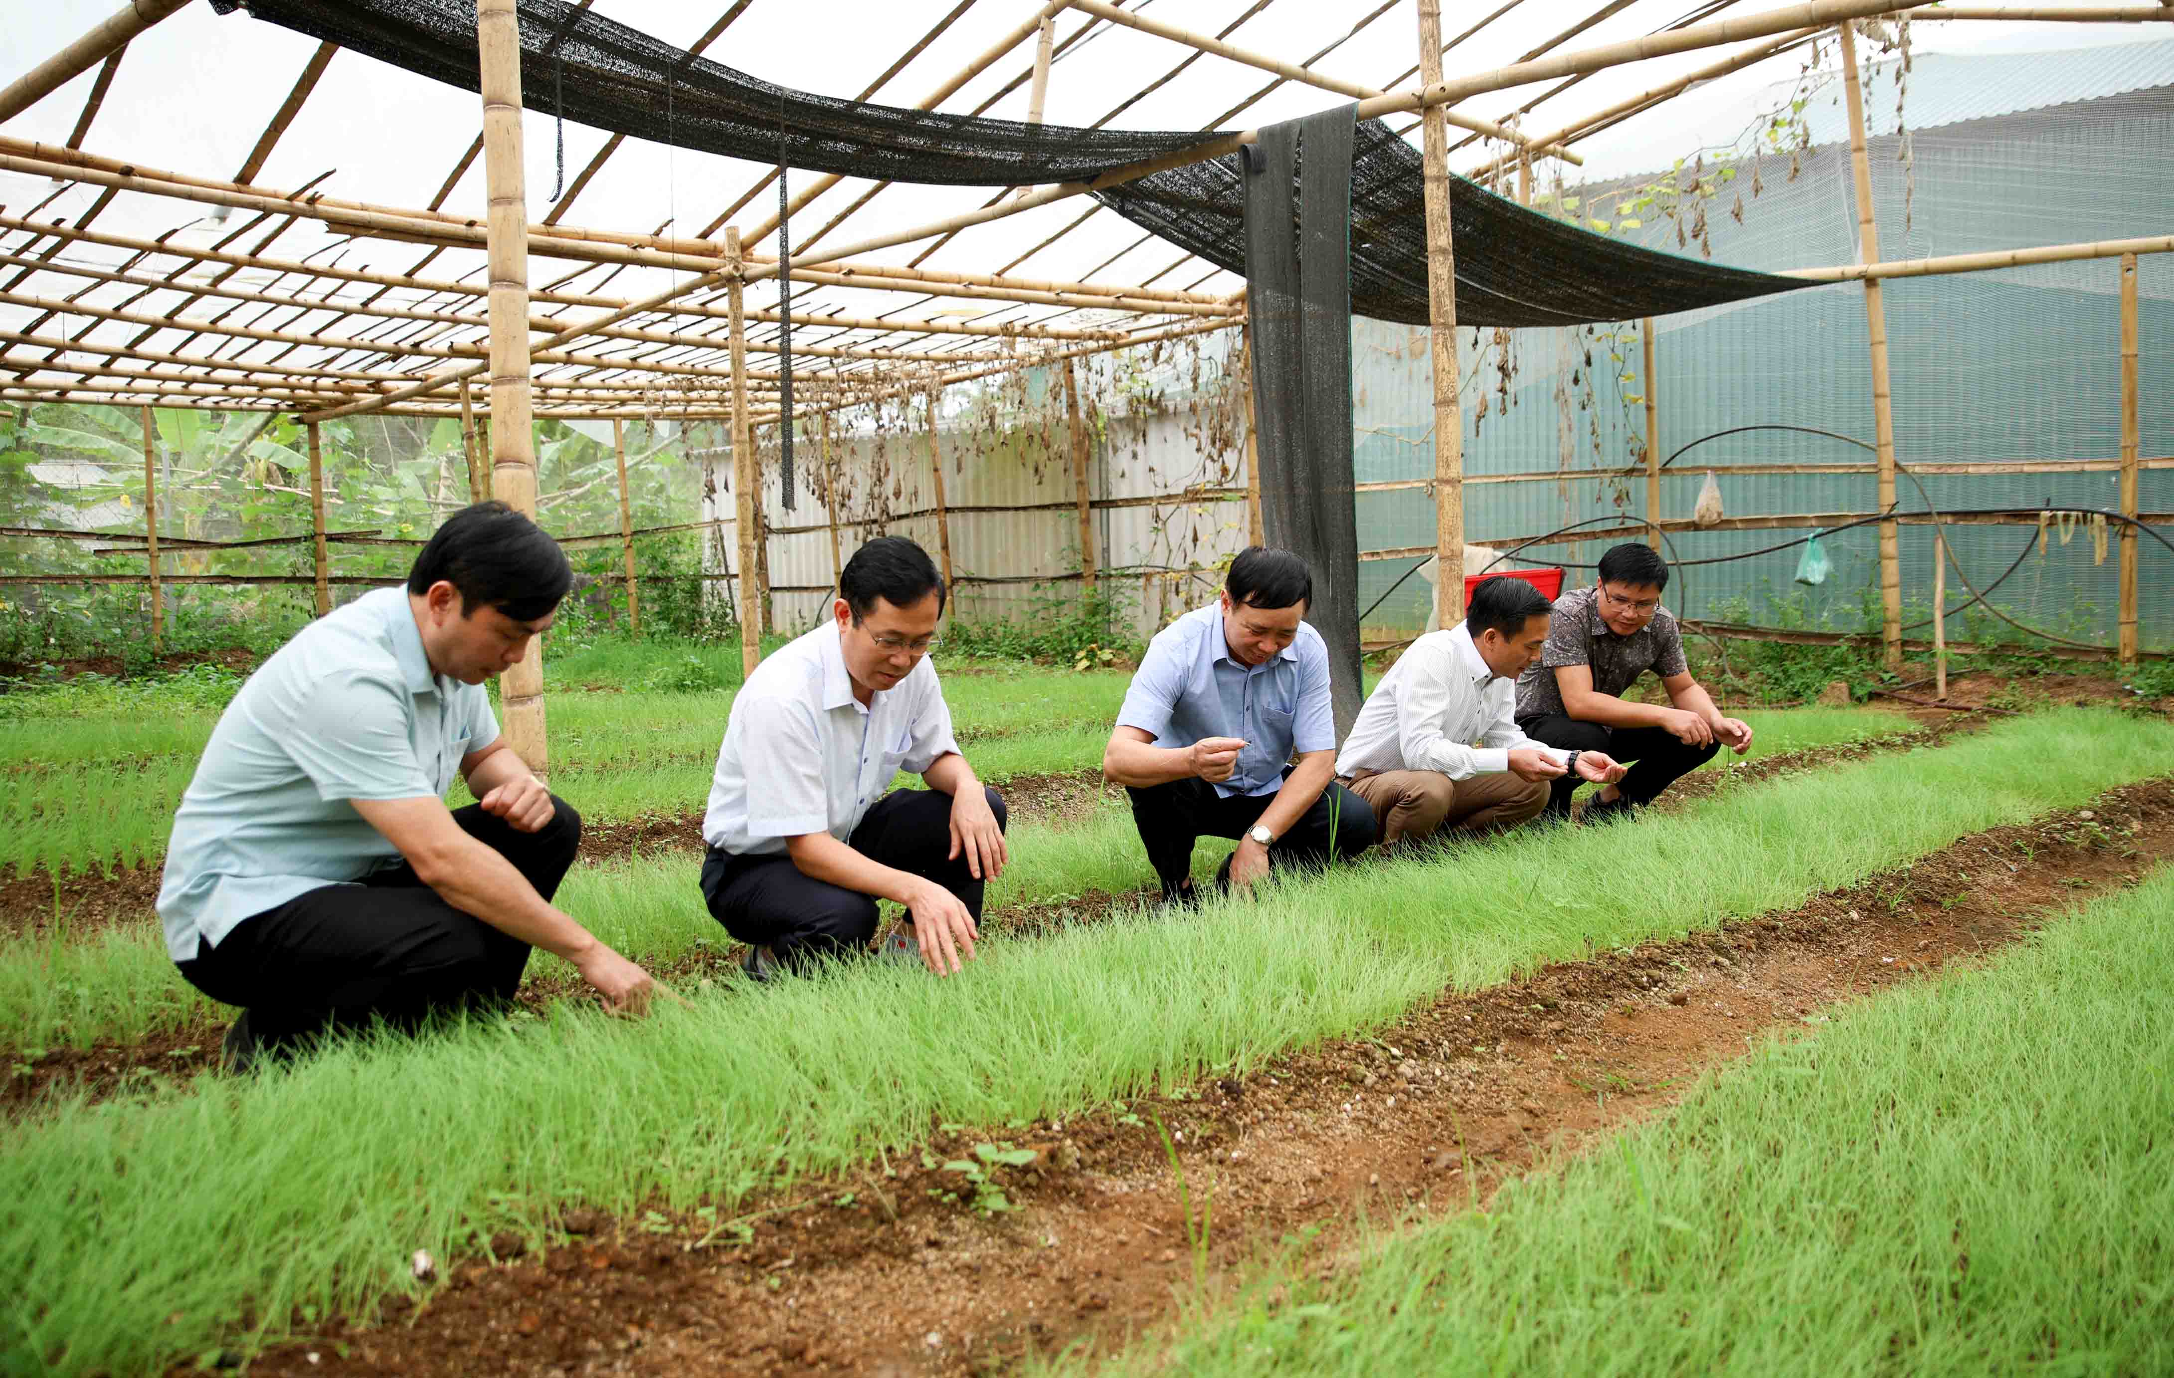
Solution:
[[[861,704],[837,622],[824,622],[733,698],[702,841],[735,856],[785,852],[787,837],[809,832],[850,841],[900,769],[920,774],[957,750],[933,661]]]

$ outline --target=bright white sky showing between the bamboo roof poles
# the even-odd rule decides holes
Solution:
[[[15,74],[57,52],[63,43],[113,13],[115,4],[117,0],[13,0],[7,7],[7,15],[0,17],[0,83],[11,80]],[[926,33],[950,4],[952,0],[754,0],[704,57],[789,87],[826,96],[854,96],[874,74],[889,65],[896,52],[902,52]],[[1448,57],[1448,70],[1452,74],[1491,70],[1515,61],[1528,48],[1578,22],[1594,4],[1596,0],[1524,0],[1507,17],[1457,48]],[[594,9],[674,46],[687,46],[726,7],[728,0],[598,0]],[[1213,33],[1244,13],[1248,0],[1139,0],[1133,7],[1185,28]],[[1448,4],[1444,28],[1454,35],[1491,7],[1491,0],[1485,4]],[[874,100],[915,104],[928,89],[946,80],[1007,30],[1026,22],[1035,9],[1030,0],[978,0],[941,39],[930,43],[900,76],[891,78]],[[1261,15],[1237,28],[1230,41],[1287,61],[1302,61],[1341,35],[1372,4],[1363,0],[1276,0]],[[1637,0],[1626,11],[1572,39],[1565,50],[1654,30],[1672,24],[1689,9],[1691,0]],[[1757,13],[1761,9],[1770,9],[1770,4],[1765,0],[1746,0],[1726,13]],[[1085,15],[1076,13],[1059,17],[1059,37],[1072,33],[1085,20]],[[1348,80],[1385,85],[1413,65],[1415,24],[1415,2],[1404,0],[1328,57],[1320,70]],[[2167,33],[2170,26],[2159,24],[1922,24],[1915,30],[1915,43],[1920,50],[1948,52],[1987,46],[2041,46],[2050,50],[2100,41],[2159,39]],[[209,2],[198,0],[130,46],[104,109],[91,126],[85,150],[130,159],[146,167],[230,178],[313,50],[313,39],[252,20],[246,13],[220,17],[211,11]],[[1048,120],[1052,124],[1094,124],[1120,100],[1167,72],[1187,54],[1189,50],[1176,48],[1165,39],[1096,24],[1096,35],[1089,41],[1057,61],[1050,78]],[[1583,113],[1711,61],[1711,52],[1694,52],[1602,72],[1541,104],[1526,120],[1526,128],[1546,130],[1567,124]],[[1652,167],[1665,163],[1670,156],[1687,154],[1702,143],[1726,139],[1735,135],[1733,128],[1698,130],[1694,124],[1685,124],[1685,117],[1694,115],[1700,104],[1720,109],[1720,104],[1739,100],[1746,91],[1794,74],[1796,61],[1794,57],[1785,57],[1776,63],[1748,67],[1715,83],[1709,91],[1696,91],[1683,102],[1646,113],[1620,126],[1620,130],[1604,135],[1596,143],[1596,154],[1602,150],[1609,152],[1609,161],[1620,163],[1615,170],[1626,172]],[[961,93],[952,96],[944,109],[972,109],[1030,63],[1033,41],[1026,41]],[[1202,57],[1178,80],[1128,109],[1117,124],[1128,128],[1200,128],[1267,80],[1267,74],[1252,67]],[[11,120],[0,133],[15,139],[63,143],[74,128],[89,85],[91,74],[78,76],[30,111]],[[1502,117],[1520,100],[1537,91],[1539,87],[1502,91],[1478,98],[1465,109],[1478,115]],[[1233,124],[1259,126],[1324,109],[1339,100],[1344,98],[1328,91],[1285,85],[1259,107],[1233,120]],[[1026,87],[1022,85],[989,113],[1024,117]],[[267,189],[289,189],[330,170],[330,176],[317,183],[330,196],[387,206],[424,206],[476,135],[478,120],[478,100],[470,91],[439,87],[352,52],[341,52],[333,59],[300,120],[287,130],[257,183]],[[526,122],[528,204],[530,215],[537,220],[550,209],[554,133],[554,122],[548,117],[530,115]],[[602,130],[576,124],[565,126],[567,178],[589,161],[604,137]],[[1489,156],[1487,150],[1472,146],[1457,154],[1457,163],[1472,165],[1485,156]],[[1587,167],[1587,174],[1600,167],[1600,161],[1596,161]],[[678,233],[691,235],[707,226],[717,211],[746,191],[761,174],[763,170],[757,165],[630,139],[604,165],[604,172],[589,185],[565,222],[648,233],[661,222],[672,220]],[[796,174],[796,185],[804,185],[811,176]],[[796,215],[796,243],[850,204],[865,187],[867,183],[848,180]],[[0,174],[0,202],[9,206],[11,215],[24,213],[48,193],[50,185],[39,178]],[[96,189],[78,187],[39,211],[39,215],[50,220],[80,211],[93,196]],[[970,187],[889,187],[852,220],[833,230],[828,243],[939,220],[976,206],[985,198],[987,189]],[[741,211],[739,220],[752,224],[774,209],[776,191],[770,189]],[[970,228],[928,259],[928,267],[991,272],[1085,209],[1085,200],[1067,200]],[[480,215],[480,159],[454,189],[446,202],[446,211]],[[150,237],[207,213],[209,206],[124,196],[98,220],[98,228]],[[239,213],[235,224],[239,224]],[[220,233],[224,228],[202,226],[189,230],[185,241],[209,243]],[[1022,278],[1067,280],[1091,274],[1100,283],[1141,283],[1180,259],[1176,248],[1148,241],[1109,261],[1135,239],[1139,239],[1137,228],[1115,213],[1102,211],[1067,239],[1028,259],[1013,274]],[[265,252],[300,259],[328,243],[330,237],[322,233],[322,226],[304,222],[285,233]],[[926,243],[915,243],[867,256],[904,263],[924,248]],[[763,252],[770,250],[774,250],[774,243],[763,246]],[[70,252],[96,256],[102,263],[115,261],[113,250],[83,248]],[[404,272],[422,252],[415,246],[400,243],[357,243],[341,250],[341,263],[354,267],[380,265]],[[459,276],[472,272],[476,265],[480,265],[480,254],[446,252],[428,272],[433,276]],[[533,280],[541,283],[561,270],[563,265],[539,261],[533,270]],[[1207,265],[1187,263],[1170,276],[1154,280],[1159,287],[1187,287],[1202,278],[1202,274],[1207,274]],[[594,285],[600,276],[600,272],[589,274],[583,283]],[[667,280],[670,276],[661,272],[628,270],[617,274],[604,291],[613,296],[646,296]],[[1237,287],[1241,283],[1230,274],[1215,274],[1200,285],[1202,291],[1235,291]],[[767,304],[772,289],[765,287],[750,296],[757,304]],[[809,302],[870,315],[900,311],[898,320],[913,320],[937,311],[963,311],[961,302],[909,304],[915,300],[833,289],[811,296]],[[1026,322],[1057,315],[1057,309],[1050,306],[1000,309],[987,304],[974,311],[978,315],[991,309],[998,311],[991,320]],[[15,311],[7,311],[7,315],[9,320],[17,317]],[[1078,324],[1078,315],[1067,317],[1067,324]],[[961,343],[967,350],[985,346],[987,341]]]

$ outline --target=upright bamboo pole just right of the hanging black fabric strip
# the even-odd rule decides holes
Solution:
[[[1441,0],[1420,0],[1420,80],[1441,83]],[[1426,172],[1426,306],[1435,369],[1435,613],[1465,615],[1465,422],[1457,406],[1457,248],[1450,241],[1450,126],[1439,104],[1420,117]]]

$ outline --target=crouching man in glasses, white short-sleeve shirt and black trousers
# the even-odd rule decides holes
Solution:
[[[974,956],[983,882],[1004,869],[1004,800],[952,739],[928,652],[944,580],[904,537],[846,561],[830,619],[754,667],[733,698],[702,815],[702,898],[748,943],[746,972],[865,952],[876,900],[907,906],[937,976]],[[913,772],[928,789],[898,789]]]

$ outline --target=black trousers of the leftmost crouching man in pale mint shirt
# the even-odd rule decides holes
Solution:
[[[454,809],[461,830],[513,863],[546,900],[580,848],[580,815],[552,796],[552,819],[522,832],[480,804]],[[504,1002],[522,985],[528,943],[448,904],[402,863],[361,885],[326,885],[241,919],[220,945],[198,941],[180,974],[250,1013],[261,1045],[293,1045],[383,1019]]]

